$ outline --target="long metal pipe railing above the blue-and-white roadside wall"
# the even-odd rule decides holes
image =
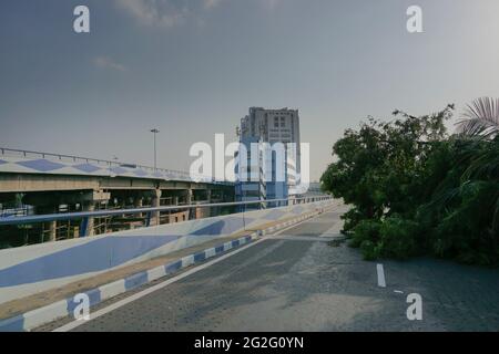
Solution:
[[[269,199],[269,200],[252,200],[252,201],[231,201],[231,202],[215,202],[215,204],[192,204],[192,205],[177,205],[177,206],[163,206],[163,207],[145,207],[145,208],[131,208],[131,209],[106,209],[96,211],[78,211],[78,212],[67,212],[67,214],[48,214],[48,215],[31,215],[22,217],[3,217],[0,218],[0,226],[8,225],[28,225],[37,222],[50,222],[50,221],[61,221],[61,220],[73,220],[73,219],[88,219],[88,218],[102,218],[110,216],[121,216],[121,215],[139,215],[149,214],[150,216],[154,212],[162,211],[179,211],[189,210],[194,208],[214,208],[214,207],[237,207],[244,206],[243,210],[232,212],[245,212],[254,211],[255,209],[247,210],[246,206],[252,205],[276,205],[276,207],[286,207],[296,204],[309,204],[317,201],[332,200],[330,196],[314,196],[314,197],[301,197],[291,199]]]

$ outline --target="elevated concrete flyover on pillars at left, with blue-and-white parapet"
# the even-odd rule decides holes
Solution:
[[[0,148],[0,217],[225,201],[234,201],[233,183],[206,176],[116,160]],[[206,217],[202,212],[192,208],[157,212],[150,218],[91,218],[86,225],[51,221],[41,229],[22,232],[27,233],[27,243],[53,241]],[[14,231],[8,230],[9,235]]]

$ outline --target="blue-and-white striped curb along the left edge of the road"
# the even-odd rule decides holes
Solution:
[[[86,294],[90,300],[90,306],[94,306],[105,300],[109,300],[113,296],[123,294],[130,290],[134,290],[141,285],[153,282],[160,278],[165,275],[171,275],[181,269],[187,268],[190,266],[200,263],[205,261],[206,259],[218,256],[223,252],[226,252],[231,249],[241,247],[243,244],[249,243],[257,239],[258,237],[275,232],[279,229],[287,228],[292,225],[302,222],[306,219],[309,219],[316,215],[324,212],[324,209],[320,208],[313,212],[307,212],[298,218],[293,220],[288,220],[286,222],[278,223],[271,228],[266,228],[263,230],[257,230],[249,233],[246,237],[233,240],[231,242],[225,242],[223,244],[218,244],[204,251],[200,251],[197,253],[192,253],[183,257],[174,262],[170,262],[164,266],[160,266],[150,270],[141,271],[139,273],[129,275],[126,278],[113,281],[111,283],[81,292]],[[17,316],[0,320],[0,332],[23,332],[31,331],[40,325],[47,324],[49,322],[55,321],[61,317],[65,317],[73,313],[74,309],[80,304],[80,302],[74,301],[74,296],[68,298],[65,300],[60,300],[50,305],[45,305],[35,310],[28,311],[26,313],[19,314]]]

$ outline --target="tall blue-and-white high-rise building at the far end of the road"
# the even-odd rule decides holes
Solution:
[[[301,171],[301,149],[299,149],[299,116],[297,110],[265,110],[262,107],[251,107],[249,114],[241,119],[238,128],[240,142],[247,149],[249,142],[257,143],[261,146],[262,155],[258,158],[262,169],[259,186],[265,186],[266,199],[287,199],[296,194],[296,178]],[[281,145],[284,149],[284,156],[278,156],[274,149]],[[248,149],[249,150],[249,149]],[[241,156],[240,156],[241,157]],[[248,162],[245,165],[255,165],[255,162]],[[284,171],[282,178],[276,173]],[[241,173],[236,169],[236,175]],[[238,183],[236,196],[240,200],[247,200],[244,194],[238,194],[248,181]],[[253,181],[253,185],[255,181]],[[253,187],[254,188],[254,187]]]

